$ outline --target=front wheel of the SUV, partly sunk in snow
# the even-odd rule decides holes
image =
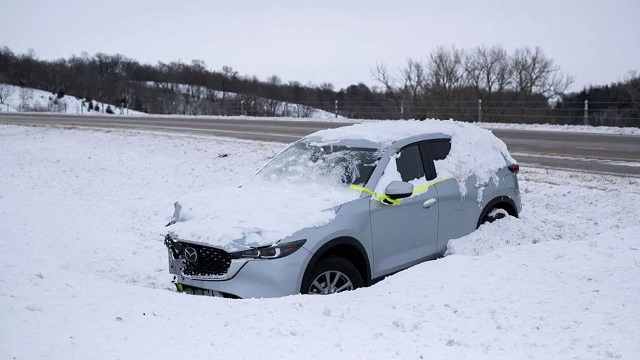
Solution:
[[[348,260],[330,256],[318,261],[302,284],[303,294],[328,295],[364,286],[362,276]]]

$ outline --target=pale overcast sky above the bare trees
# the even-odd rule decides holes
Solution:
[[[373,85],[438,45],[540,46],[571,90],[640,71],[640,0],[0,0],[0,46],[39,58],[200,59],[260,79]]]

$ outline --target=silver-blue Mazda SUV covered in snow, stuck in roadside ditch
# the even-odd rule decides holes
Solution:
[[[443,255],[450,239],[521,210],[519,167],[490,131],[452,120],[313,133],[250,181],[175,203],[179,291],[331,294]]]

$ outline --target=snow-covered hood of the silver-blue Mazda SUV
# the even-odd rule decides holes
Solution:
[[[183,197],[164,230],[228,252],[246,250],[327,224],[339,205],[359,196],[346,186],[253,181]]]

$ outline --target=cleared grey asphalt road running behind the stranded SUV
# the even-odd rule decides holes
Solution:
[[[322,121],[2,114],[0,123],[197,133],[248,140],[293,142],[314,131],[349,125]],[[640,177],[640,136],[493,130],[521,165]]]

